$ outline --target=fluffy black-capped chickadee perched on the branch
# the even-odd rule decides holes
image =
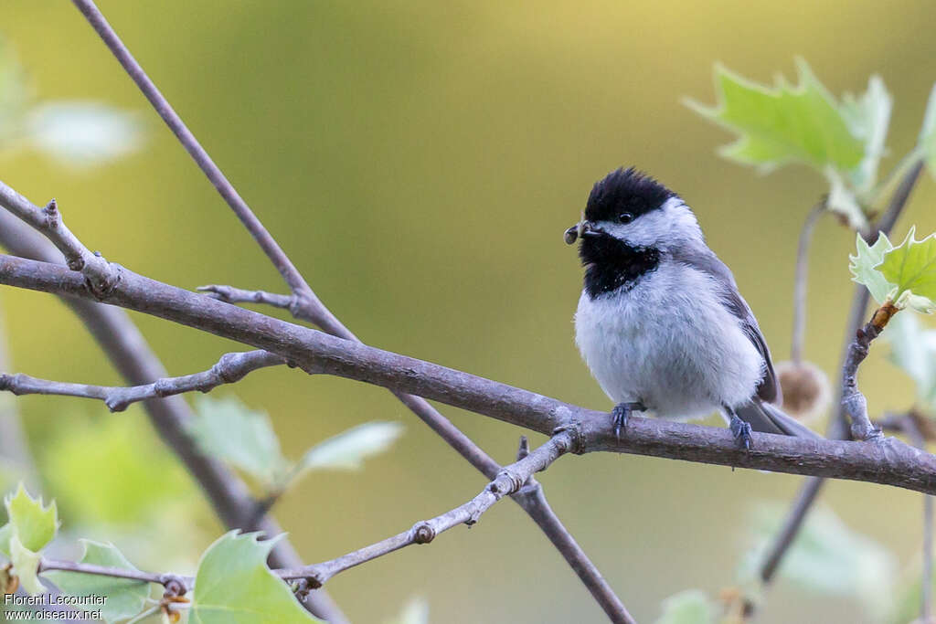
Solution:
[[[617,169],[565,231],[585,281],[576,343],[608,397],[615,433],[632,412],[690,419],[719,411],[739,445],[751,431],[817,437],[783,414],[767,342],[693,211],[663,184]]]

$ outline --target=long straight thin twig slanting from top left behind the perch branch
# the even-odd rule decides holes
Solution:
[[[285,283],[289,285],[292,291],[292,302],[289,306],[290,312],[292,312],[296,318],[311,321],[334,336],[339,336],[345,340],[357,340],[354,334],[352,334],[347,327],[344,327],[341,321],[339,321],[318,299],[312,288],[300,274],[300,271],[293,265],[292,261],[276,240],[271,237],[270,233],[259,219],[256,218],[254,212],[250,210],[250,207],[227,180],[227,177],[221,169],[214,164],[208,152],[202,148],[197,138],[195,138],[195,135],[193,135],[185,123],[183,123],[182,118],[179,117],[176,111],[169,105],[166,97],[156,88],[153,80],[150,80],[142,66],[139,65],[130,51],[124,46],[124,42],[121,41],[113,28],[110,27],[110,23],[107,22],[104,15],[95,6],[95,3],[92,2],[92,0],[72,1],[85,19],[95,29],[95,32],[101,37],[117,61],[124,67],[124,71],[126,71],[127,75],[130,76],[131,80],[137,84],[139,90],[150,101],[157,114],[167,123],[169,129],[175,134],[176,138],[179,139],[185,150],[189,152],[196,161],[198,167],[201,168],[212,182],[214,188],[224,197],[227,205],[231,210],[234,210],[234,213],[241,220],[241,223],[247,228],[254,239],[256,239],[273,265],[279,270]],[[490,478],[492,474],[500,469],[500,466],[493,458],[488,456],[480,447],[473,443],[471,439],[452,425],[445,416],[436,411],[428,402],[406,394],[394,394],[396,394],[397,398],[410,408],[414,414],[417,414],[423,422],[429,425],[433,431],[441,436],[446,443],[454,448],[461,457],[464,457],[475,466],[477,470]],[[523,506],[522,503],[520,506]],[[553,533],[555,531],[555,525],[559,524],[559,520],[556,517],[552,518],[552,522],[554,526],[551,529],[543,527],[547,535]],[[582,570],[581,559],[584,557],[584,553],[578,548],[578,544],[576,544],[574,550],[563,550],[563,544],[574,542],[571,535],[566,535],[562,542],[554,541],[553,544],[560,549],[563,557],[569,562],[573,569],[578,571]],[[592,583],[593,579],[600,578],[600,573],[598,573],[591,561],[588,561],[588,569],[588,574],[583,575],[579,573],[580,579],[586,585]],[[595,588],[590,585],[589,589],[592,591],[595,590]],[[616,617],[622,617],[622,613],[607,613],[607,616],[614,620]]]

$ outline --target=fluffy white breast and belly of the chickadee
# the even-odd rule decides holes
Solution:
[[[583,292],[576,343],[615,403],[692,418],[750,399],[766,363],[709,275],[664,259],[628,291]]]

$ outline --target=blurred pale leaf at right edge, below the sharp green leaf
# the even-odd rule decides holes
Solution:
[[[914,380],[917,400],[936,408],[936,330],[924,328],[916,314],[898,314],[884,336],[891,362]]]

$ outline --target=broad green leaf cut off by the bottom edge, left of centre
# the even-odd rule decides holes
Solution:
[[[271,573],[267,556],[276,540],[231,531],[209,546],[198,564],[191,624],[317,622],[292,590]]]

